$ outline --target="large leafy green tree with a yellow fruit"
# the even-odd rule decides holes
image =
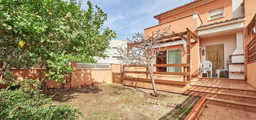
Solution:
[[[107,14],[98,6],[87,1],[83,10],[81,3],[0,0],[1,76],[12,67],[37,62],[47,69],[45,86],[47,79],[65,82],[72,71],[68,62],[93,62],[94,56],[103,56],[115,31],[102,29]]]

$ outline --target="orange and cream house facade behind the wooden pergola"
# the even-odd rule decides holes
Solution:
[[[192,1],[154,16],[158,25],[145,29],[145,34],[167,26],[177,33],[188,28],[199,36],[199,42],[191,41],[192,77],[199,76],[199,64],[211,61],[212,76],[217,77],[217,71],[222,69],[226,72],[222,74],[228,75],[226,78],[250,81],[246,73],[245,46],[253,39],[247,33],[247,26],[255,16],[255,5],[254,0]],[[167,56],[163,61],[156,60],[156,64],[181,64],[186,61],[182,44],[163,47],[161,50]],[[170,71],[170,68],[159,71]]]

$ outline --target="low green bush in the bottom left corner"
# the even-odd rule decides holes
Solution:
[[[0,90],[0,119],[77,119],[80,111],[67,104],[54,106],[52,99],[32,89],[34,86],[29,87],[32,83],[27,80],[20,83],[19,89]]]

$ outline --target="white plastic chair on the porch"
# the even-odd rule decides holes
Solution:
[[[210,75],[208,74],[210,72]],[[202,77],[203,74],[207,74],[207,77],[212,78],[212,62],[211,61],[203,61],[200,64],[200,77]]]

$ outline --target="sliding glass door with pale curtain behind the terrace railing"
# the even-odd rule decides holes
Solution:
[[[167,54],[167,64],[181,64],[181,49],[171,49]],[[181,72],[181,67],[168,67],[168,72]]]

